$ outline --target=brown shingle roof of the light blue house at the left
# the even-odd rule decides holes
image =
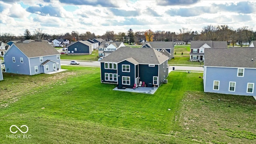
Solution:
[[[14,45],[18,49],[20,49],[20,51],[22,51],[28,58],[60,54],[47,42],[17,43]],[[9,48],[8,50],[10,49],[11,48]],[[5,54],[8,53],[8,50]]]

